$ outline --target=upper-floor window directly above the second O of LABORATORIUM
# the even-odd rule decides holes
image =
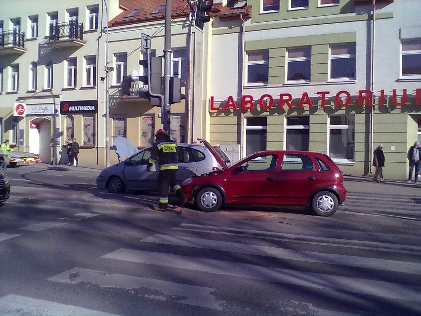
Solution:
[[[330,79],[355,80],[355,44],[331,45]]]

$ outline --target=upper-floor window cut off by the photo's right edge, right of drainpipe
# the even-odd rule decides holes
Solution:
[[[402,41],[402,70],[404,78],[421,77],[421,39]]]

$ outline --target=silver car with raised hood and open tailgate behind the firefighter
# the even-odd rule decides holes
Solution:
[[[198,139],[201,144],[177,144],[177,182],[211,171],[221,170],[230,165],[229,158],[219,148]],[[110,193],[123,193],[130,190],[158,190],[158,173],[148,172],[146,165],[151,156],[152,146],[146,147],[116,165],[105,168],[96,178],[99,189]],[[158,168],[159,169],[159,168]],[[154,165],[152,171],[156,171]]]

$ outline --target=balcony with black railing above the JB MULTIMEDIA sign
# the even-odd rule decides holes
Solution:
[[[74,21],[51,24],[46,44],[56,48],[84,46],[84,24]]]

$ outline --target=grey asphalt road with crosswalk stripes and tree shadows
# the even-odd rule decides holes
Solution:
[[[96,167],[12,168],[0,315],[421,315],[419,187],[349,178],[330,218],[300,208],[150,209]]]

